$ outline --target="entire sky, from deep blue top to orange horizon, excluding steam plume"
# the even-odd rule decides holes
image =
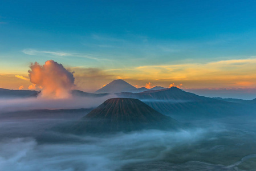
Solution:
[[[54,60],[93,92],[133,86],[238,89],[256,97],[255,1],[0,1],[0,87],[28,89]],[[150,83],[150,84],[149,84]],[[22,87],[21,87],[22,86]]]

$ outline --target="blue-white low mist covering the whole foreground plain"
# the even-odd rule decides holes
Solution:
[[[103,137],[51,130],[68,120],[1,120],[0,170],[243,170],[256,157],[255,120]]]

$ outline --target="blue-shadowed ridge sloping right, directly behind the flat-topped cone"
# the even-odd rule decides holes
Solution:
[[[90,94],[76,93],[79,96],[107,96],[109,93]],[[210,97],[198,96],[177,87],[148,90],[140,93],[121,92],[114,93],[117,97],[139,99],[156,111],[175,117],[176,119],[203,119],[214,117],[226,117],[254,113],[255,100],[225,101]],[[184,117],[185,116],[185,117]]]

